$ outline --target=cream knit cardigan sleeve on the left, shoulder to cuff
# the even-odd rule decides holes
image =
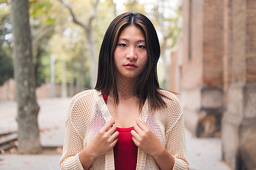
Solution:
[[[83,169],[79,153],[86,145],[86,133],[92,117],[96,100],[92,90],[76,94],[69,104],[65,122],[65,139],[60,159],[61,170]]]

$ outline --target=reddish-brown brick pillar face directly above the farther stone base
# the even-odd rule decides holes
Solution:
[[[204,1],[203,87],[222,87],[224,54],[223,0]]]

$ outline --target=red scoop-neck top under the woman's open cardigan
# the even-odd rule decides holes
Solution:
[[[108,94],[103,95],[106,103]],[[117,144],[114,146],[114,163],[117,170],[136,169],[138,147],[134,144],[130,128],[117,128],[119,131]]]

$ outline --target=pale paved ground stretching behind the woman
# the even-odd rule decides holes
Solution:
[[[64,141],[64,122],[71,99],[41,99],[39,128],[42,146],[62,146]],[[16,131],[16,103],[0,102],[0,134]],[[188,130],[185,131],[187,142],[187,157],[191,170],[230,170],[221,161],[221,141],[218,138],[199,139]],[[47,170],[60,169],[60,154],[18,155],[0,154],[0,169],[14,170]]]

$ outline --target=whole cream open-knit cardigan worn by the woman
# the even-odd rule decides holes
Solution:
[[[175,158],[173,169],[189,169],[186,150],[183,113],[179,100],[171,92],[160,90],[170,99],[164,97],[166,108],[153,111],[146,99],[141,117],[154,131],[160,143]],[[61,169],[83,169],[79,152],[92,141],[94,135],[111,119],[101,92],[86,90],[75,95],[69,105],[65,122],[65,140],[63,155],[60,159]],[[113,149],[101,155],[90,169],[114,169]],[[138,149],[137,169],[159,169],[154,158]]]

